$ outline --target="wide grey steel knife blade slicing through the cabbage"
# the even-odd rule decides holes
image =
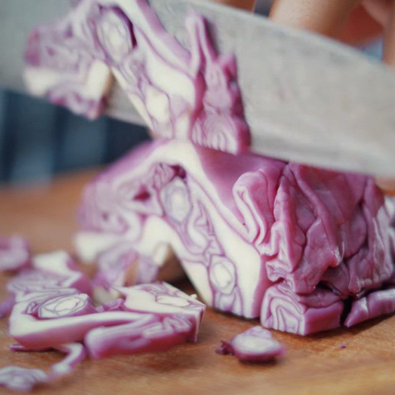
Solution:
[[[265,17],[201,0],[150,0],[165,29],[188,47],[194,8],[221,53],[234,53],[252,151],[321,167],[395,176],[395,73],[356,49]],[[0,83],[24,90],[31,29],[69,1],[0,2]],[[143,124],[116,84],[107,113]]]

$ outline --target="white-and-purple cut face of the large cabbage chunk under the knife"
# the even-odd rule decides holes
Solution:
[[[174,159],[174,152],[179,153],[178,159]],[[210,172],[211,155],[220,156],[218,166],[211,172],[214,177],[220,175],[222,164],[228,167],[228,180],[222,177],[224,189],[218,191],[223,192],[224,198],[215,192],[216,180],[207,179],[205,174]],[[178,141],[157,141],[141,147],[86,189],[80,210],[84,231],[76,242],[79,253],[85,254],[85,246],[91,251],[90,240],[100,236],[103,239],[117,236],[115,248],[127,242],[146,256],[155,256],[162,245],[170,244],[208,303],[235,314],[259,316],[262,290],[257,284],[260,278],[265,280],[261,257],[251,242],[240,237],[247,236],[247,231],[223,203],[231,199],[230,208],[235,205],[228,188],[232,188],[243,168],[250,169],[250,164],[258,167],[270,160],[248,156],[244,166],[241,160],[229,167],[230,158],[234,157]],[[204,159],[207,169],[202,168]],[[279,175],[282,166],[278,162],[273,173]],[[208,194],[207,189],[213,193]],[[221,216],[222,211],[224,215],[231,214],[231,225],[236,229]],[[95,245],[99,254],[100,243]],[[194,272],[198,276],[191,275]]]

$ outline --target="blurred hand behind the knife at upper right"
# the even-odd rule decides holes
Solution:
[[[270,17],[351,44],[383,34],[383,61],[395,67],[395,0],[275,0]],[[376,184],[395,195],[395,180]]]

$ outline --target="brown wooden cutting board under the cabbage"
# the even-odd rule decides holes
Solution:
[[[62,176],[49,185],[0,190],[0,234],[28,237],[35,252],[71,249],[75,211],[82,185],[93,172]],[[0,297],[6,277],[0,277]],[[187,283],[181,288],[191,290]],[[214,353],[256,324],[208,309],[198,344],[168,352],[85,360],[75,372],[37,394],[395,394],[395,316],[351,330],[310,337],[276,332],[287,347],[276,363],[245,364]],[[6,319],[0,321],[0,366],[43,369],[60,359],[56,352],[11,353]],[[343,343],[346,349],[340,349]],[[8,393],[0,390],[0,393]]]

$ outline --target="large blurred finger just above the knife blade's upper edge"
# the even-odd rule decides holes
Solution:
[[[360,0],[275,0],[270,17],[276,22],[338,37]]]

